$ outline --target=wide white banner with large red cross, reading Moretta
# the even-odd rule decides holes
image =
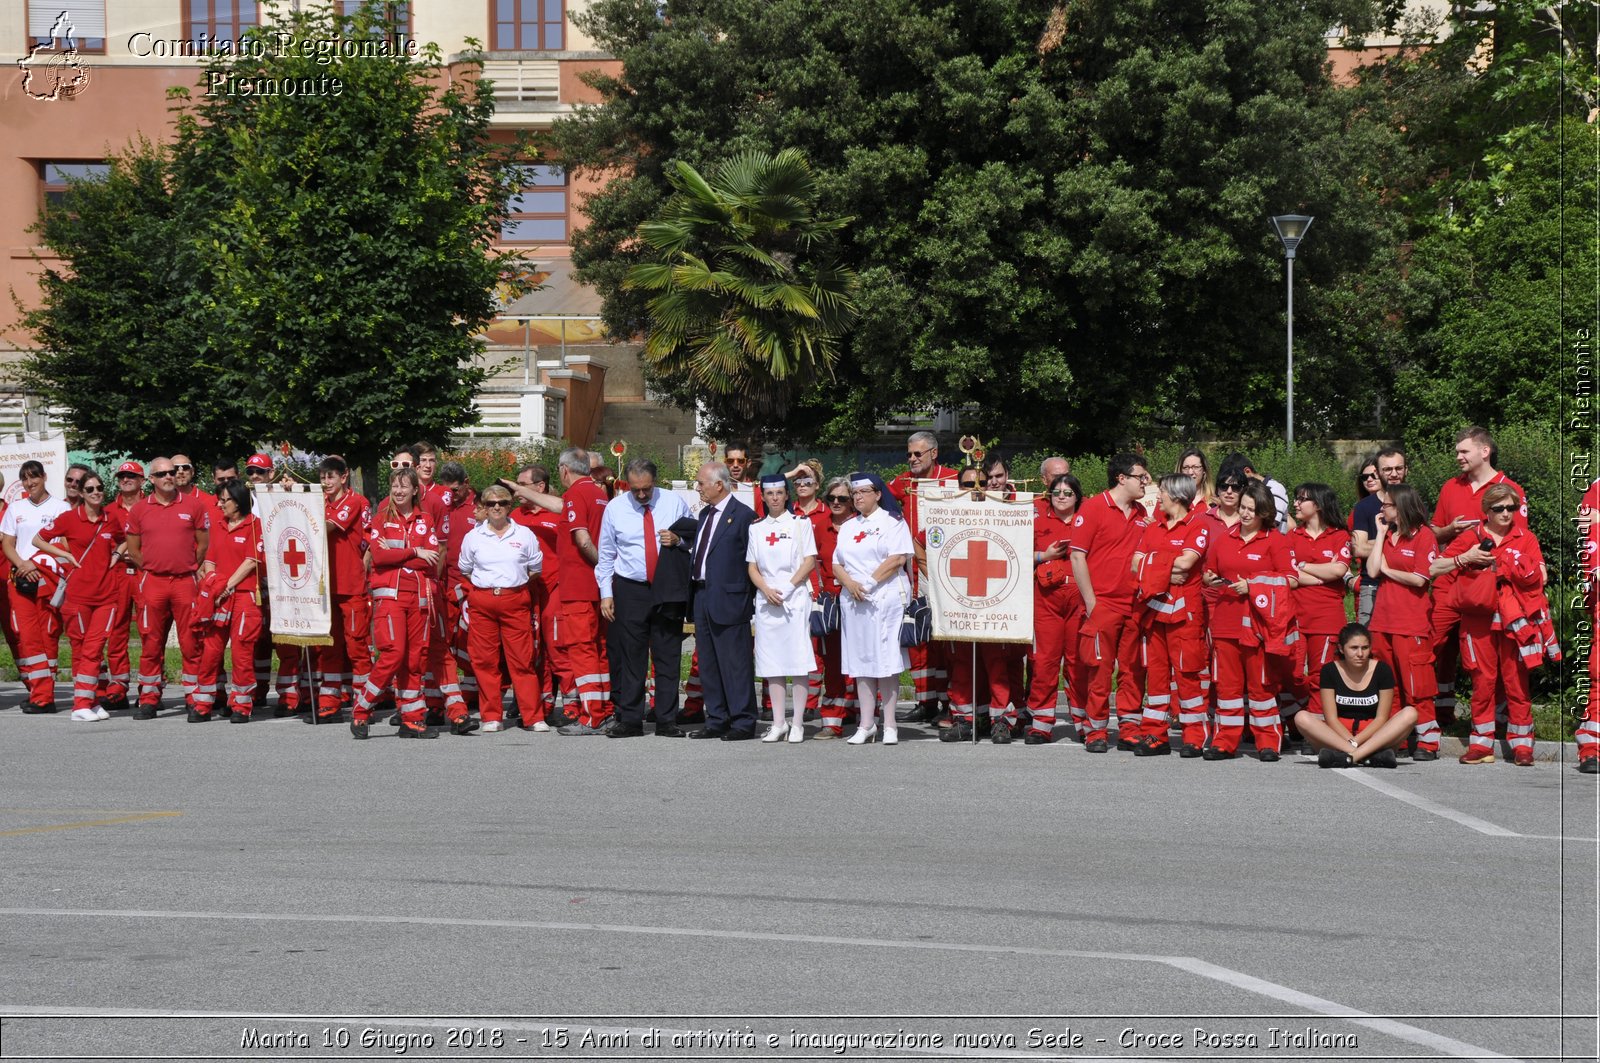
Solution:
[[[917,499],[933,637],[1034,642],[1034,496],[974,501],[930,485]]]

